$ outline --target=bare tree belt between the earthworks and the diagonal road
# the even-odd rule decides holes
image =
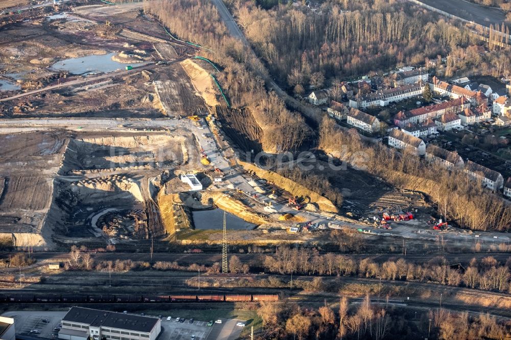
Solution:
[[[144,10],[158,17],[171,33],[181,39],[211,48],[200,55],[213,60],[223,70],[217,75],[231,104],[250,107],[263,128],[261,143],[267,152],[299,148],[312,135],[301,115],[290,112],[275,95],[266,92],[262,65],[226,33],[216,8],[206,0],[145,1]],[[176,20],[176,18],[179,18]]]

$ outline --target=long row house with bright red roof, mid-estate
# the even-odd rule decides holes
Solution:
[[[463,109],[469,108],[470,102],[461,97],[452,101],[424,106],[410,111],[400,111],[394,118],[393,123],[399,127],[403,127],[408,123],[422,123],[427,119],[435,119],[445,113],[458,113]]]

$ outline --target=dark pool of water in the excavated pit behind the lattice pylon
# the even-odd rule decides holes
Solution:
[[[223,213],[222,209],[193,211],[195,229],[223,229]],[[227,229],[231,230],[252,230],[256,227],[228,212],[225,214],[225,223]]]

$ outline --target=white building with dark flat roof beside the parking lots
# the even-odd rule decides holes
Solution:
[[[159,318],[71,307],[62,319],[59,339],[155,340],[160,331]]]

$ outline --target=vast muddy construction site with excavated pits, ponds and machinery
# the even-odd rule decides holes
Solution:
[[[0,234],[14,246],[459,232],[438,223],[423,193],[351,166],[316,159],[339,204],[245,162],[237,152],[263,151],[264,127],[249,108],[228,107],[212,76],[221,70],[141,3],[8,11],[0,45]]]

